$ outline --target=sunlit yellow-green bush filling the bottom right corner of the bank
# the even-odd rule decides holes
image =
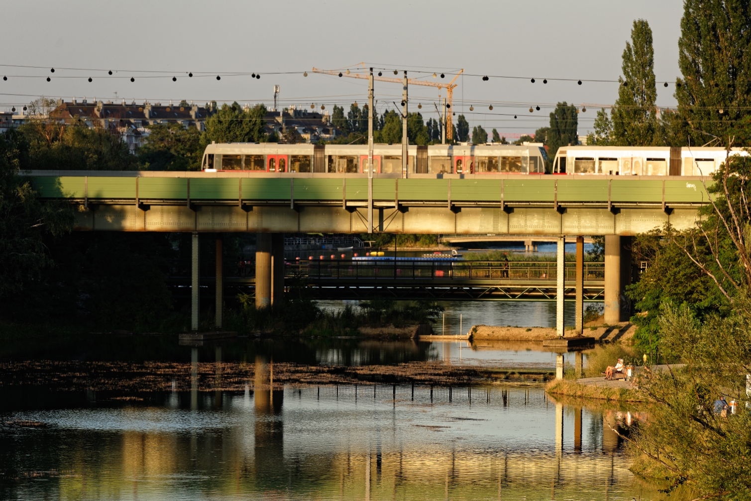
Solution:
[[[663,358],[684,369],[644,371],[642,394],[656,403],[649,423],[632,433],[635,454],[659,464],[671,492],[681,484],[693,497],[751,499],[751,414],[746,409],[745,374],[751,372],[751,301],[735,296],[726,318],[710,315],[700,323],[689,306],[662,309]],[[739,412],[723,418],[713,401],[720,395],[738,403]]]

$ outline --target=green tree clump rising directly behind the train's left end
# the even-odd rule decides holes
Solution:
[[[243,110],[240,104],[222,104],[206,121],[206,131],[201,135],[201,152],[211,141],[217,143],[264,143],[269,138],[265,132],[266,107],[258,104]]]

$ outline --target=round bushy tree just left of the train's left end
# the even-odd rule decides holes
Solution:
[[[179,123],[149,125],[146,143],[138,150],[143,169],[149,171],[200,171],[201,132]]]

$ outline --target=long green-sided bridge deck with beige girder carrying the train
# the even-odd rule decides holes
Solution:
[[[81,231],[367,233],[362,174],[31,171]],[[418,174],[372,179],[374,232],[631,235],[695,224],[701,177]]]

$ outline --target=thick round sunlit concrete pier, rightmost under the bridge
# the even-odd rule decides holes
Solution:
[[[605,323],[627,321],[631,305],[626,285],[631,283],[631,237],[605,235]]]

